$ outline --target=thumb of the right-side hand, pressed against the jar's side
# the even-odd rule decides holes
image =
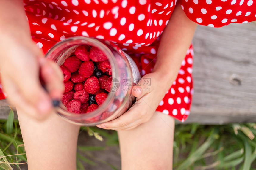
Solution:
[[[153,90],[152,79],[153,73],[149,73],[143,76],[138,84],[132,87],[132,95],[137,99],[140,99],[147,93],[151,92]]]

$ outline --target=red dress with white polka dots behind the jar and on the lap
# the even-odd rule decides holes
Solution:
[[[154,67],[159,36],[175,5],[176,0],[24,0],[32,39],[44,53],[72,36],[106,39],[134,59],[142,76]],[[157,111],[180,121],[188,117],[193,94],[192,64],[191,46]],[[0,98],[4,98],[1,86]]]

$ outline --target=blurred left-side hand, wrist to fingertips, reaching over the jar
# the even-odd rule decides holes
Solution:
[[[64,91],[63,74],[29,34],[11,33],[0,31],[1,83],[11,105],[43,119],[53,110],[52,99],[60,99]],[[40,72],[49,93],[40,84]]]

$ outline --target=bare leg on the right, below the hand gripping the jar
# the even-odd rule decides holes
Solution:
[[[174,118],[157,112],[135,129],[118,131],[122,170],[171,170]]]

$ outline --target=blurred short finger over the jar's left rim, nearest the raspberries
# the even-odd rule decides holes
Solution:
[[[53,99],[60,99],[64,92],[63,74],[55,63],[46,61],[41,66],[41,76]]]

